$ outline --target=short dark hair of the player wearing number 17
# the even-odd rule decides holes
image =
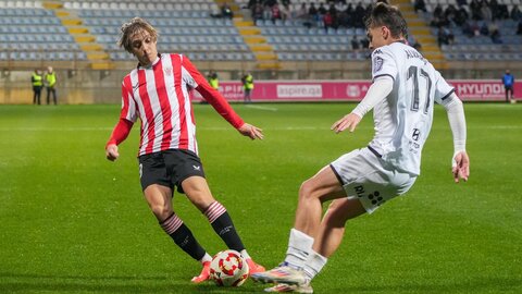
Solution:
[[[376,26],[388,27],[394,38],[408,36],[408,24],[397,7],[378,2],[372,8],[364,22],[368,29]]]

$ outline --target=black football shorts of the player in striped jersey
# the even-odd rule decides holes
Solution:
[[[182,182],[192,175],[204,177],[203,164],[199,157],[184,149],[169,149],[164,151],[142,155],[139,161],[139,179],[145,191],[152,184],[167,186],[184,193]]]

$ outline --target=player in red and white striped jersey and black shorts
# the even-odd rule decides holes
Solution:
[[[262,139],[262,130],[244,122],[187,57],[158,53],[158,33],[149,23],[133,19],[122,26],[121,34],[120,46],[136,57],[138,65],[123,78],[120,121],[107,143],[107,158],[117,159],[117,145],[139,119],[139,176],[145,198],[165,233],[201,262],[201,273],[191,281],[199,283],[209,279],[211,256],[174,212],[175,187],[208,218],[228,248],[244,255],[251,273],[264,271],[248,255],[231,216],[210,192],[198,157],[189,91],[199,91],[241,135]]]

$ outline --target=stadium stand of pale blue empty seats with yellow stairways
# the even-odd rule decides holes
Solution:
[[[487,69],[492,64],[500,68],[522,61],[522,36],[517,35],[520,21],[506,19],[495,22],[499,27],[501,44],[493,44],[486,36],[467,37],[460,27],[450,24],[455,42],[438,46],[439,30],[430,27],[436,5],[446,9],[464,0],[423,0],[425,12],[415,12],[417,1],[391,2],[400,7],[411,37],[422,45],[422,53],[437,68]],[[225,2],[234,13],[233,19],[219,17],[220,7]],[[369,50],[363,49],[364,45],[358,48],[352,46],[353,37],[361,42],[365,39],[365,32],[360,25],[340,25],[337,28],[325,28],[315,23],[307,25],[296,17],[296,12],[302,4],[309,5],[308,0],[290,1],[288,11],[284,13],[286,16],[282,19],[253,21],[248,9],[250,2],[0,0],[0,24],[3,24],[0,28],[0,65],[12,68],[15,62],[18,68],[33,68],[30,61],[63,61],[55,68],[128,69],[129,63],[135,61],[116,46],[119,27],[134,16],[141,16],[160,30],[160,50],[186,53],[200,64],[204,63],[203,69],[220,64],[225,71],[306,69],[311,72],[348,69],[357,72],[369,66]],[[346,2],[353,8],[359,2],[363,7],[373,3],[372,0]],[[510,11],[520,5],[520,0],[498,0],[498,3],[506,4]],[[469,4],[464,8],[468,9]],[[483,22],[478,21],[477,24],[482,25]]]

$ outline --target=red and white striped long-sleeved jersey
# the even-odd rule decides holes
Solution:
[[[234,127],[244,121],[219,91],[182,54],[160,54],[148,68],[138,66],[123,78],[120,118],[141,121],[138,156],[166,149],[198,154],[196,121],[189,91],[201,96]]]

